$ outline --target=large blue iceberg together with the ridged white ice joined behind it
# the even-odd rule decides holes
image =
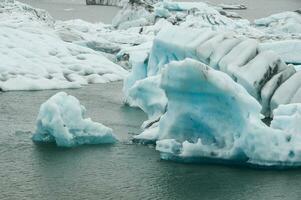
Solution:
[[[300,166],[300,116],[289,111],[301,97],[299,72],[273,42],[208,26],[162,27],[124,84],[126,102],[149,116],[134,140],[156,142],[163,159]],[[264,116],[274,118],[270,127]]]

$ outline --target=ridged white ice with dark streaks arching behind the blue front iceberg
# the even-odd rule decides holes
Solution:
[[[292,78],[296,71],[294,67],[284,63],[281,56],[277,54],[277,51],[272,51],[272,48],[259,51],[259,44],[255,39],[237,36],[229,31],[167,26],[154,39],[148,62],[146,62],[147,58],[143,58],[143,63],[133,65],[133,70],[124,84],[125,99],[130,105],[133,104],[129,100],[133,99],[131,95],[134,93],[130,94],[128,91],[134,84],[135,88],[143,90],[141,89],[143,86],[138,86],[143,81],[137,80],[160,75],[166,64],[171,61],[192,58],[227,73],[262,103],[262,113],[270,116],[270,108],[276,108],[270,106],[271,99],[278,94],[278,88],[280,89],[282,84],[287,84],[286,80]],[[289,48],[288,50],[291,51]],[[282,49],[282,51],[285,50]],[[297,55],[298,51],[296,52]],[[291,84],[296,88],[301,86],[295,79],[292,79]],[[156,87],[152,90],[155,89]],[[160,90],[160,88],[157,89]],[[283,96],[284,90],[281,91],[279,94]],[[152,92],[153,95],[161,93],[162,91]],[[136,92],[135,100],[145,101],[144,98],[138,99],[140,97],[141,95],[137,95]],[[160,96],[156,97],[156,99],[159,98]],[[282,101],[275,100],[275,102]],[[291,103],[291,101],[284,103]],[[147,105],[147,102],[143,104]],[[279,105],[279,103],[274,104]],[[145,106],[142,109],[145,110]]]

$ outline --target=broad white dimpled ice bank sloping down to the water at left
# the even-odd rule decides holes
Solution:
[[[0,90],[78,88],[126,76],[102,53],[63,41],[47,12],[7,0],[0,9]]]

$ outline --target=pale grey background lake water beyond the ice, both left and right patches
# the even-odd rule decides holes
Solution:
[[[47,10],[55,19],[83,19],[90,22],[111,23],[113,17],[119,11],[117,7],[110,6],[86,6],[85,0],[19,0],[36,8]],[[200,0],[174,0],[195,1]],[[301,9],[301,0],[203,0],[211,4],[243,4],[246,10],[234,10],[242,17],[253,21],[256,18],[283,12]]]

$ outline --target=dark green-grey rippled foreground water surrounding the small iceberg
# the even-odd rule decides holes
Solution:
[[[122,104],[121,88],[64,90],[121,138],[72,149],[30,139],[40,104],[58,91],[0,93],[0,199],[300,199],[300,170],[166,162],[153,147],[132,144],[146,116]]]

